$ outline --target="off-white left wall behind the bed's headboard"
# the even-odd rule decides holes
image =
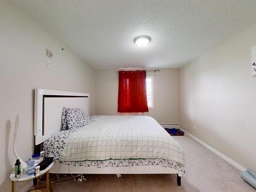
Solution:
[[[4,1],[0,2],[0,29],[0,191],[10,191],[8,120],[13,129],[15,116],[21,117],[17,152],[27,160],[34,145],[33,89],[89,92],[94,115],[95,70],[68,48],[62,52],[60,42]],[[53,51],[52,68],[46,67],[46,48]]]

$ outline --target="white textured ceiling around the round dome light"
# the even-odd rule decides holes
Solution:
[[[256,23],[254,0],[10,2],[96,69],[180,67]]]

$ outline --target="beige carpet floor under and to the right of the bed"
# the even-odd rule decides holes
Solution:
[[[87,181],[51,184],[62,191],[256,191],[240,178],[240,171],[190,137],[175,139],[187,154],[186,174],[177,185],[175,175],[86,175]]]

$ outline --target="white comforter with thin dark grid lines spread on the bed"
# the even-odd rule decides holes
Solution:
[[[183,148],[148,116],[99,116],[72,133],[62,161],[165,159],[185,165]]]

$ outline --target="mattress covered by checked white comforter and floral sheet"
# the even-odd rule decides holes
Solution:
[[[183,148],[147,116],[94,116],[94,122],[45,141],[47,156],[83,166],[185,165]]]

